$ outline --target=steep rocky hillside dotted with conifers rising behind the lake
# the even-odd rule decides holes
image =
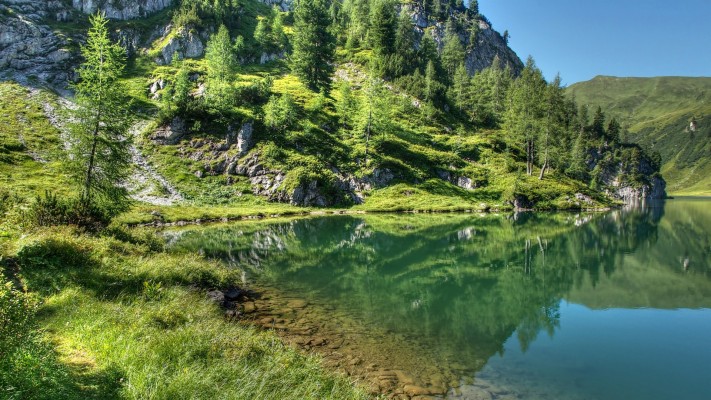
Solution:
[[[658,162],[524,65],[476,1],[0,7],[5,78],[62,93],[81,79],[86,14],[110,19],[135,136],[124,186],[141,201],[464,210],[664,196]]]

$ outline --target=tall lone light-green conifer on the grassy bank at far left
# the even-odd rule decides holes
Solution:
[[[119,184],[128,177],[131,164],[130,105],[119,80],[125,51],[109,40],[103,14],[91,16],[90,23],[81,48],[79,82],[74,85],[78,107],[68,161],[70,174],[81,184],[80,206],[87,215],[97,207],[110,213],[125,209],[127,192]]]

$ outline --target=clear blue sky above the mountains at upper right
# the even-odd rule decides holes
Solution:
[[[596,75],[711,76],[711,0],[479,0],[522,60],[564,84]]]

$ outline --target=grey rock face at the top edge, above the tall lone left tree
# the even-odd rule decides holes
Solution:
[[[106,18],[117,20],[143,18],[172,4],[173,0],[72,0],[72,6],[84,14],[101,10]]]

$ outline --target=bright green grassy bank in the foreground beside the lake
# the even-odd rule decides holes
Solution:
[[[2,299],[33,317],[10,319],[3,300],[3,325],[19,337],[0,348],[3,396],[366,397],[274,334],[226,321],[206,292],[231,285],[232,271],[161,247],[152,232],[125,230],[6,241],[3,280],[22,291],[3,286]]]

